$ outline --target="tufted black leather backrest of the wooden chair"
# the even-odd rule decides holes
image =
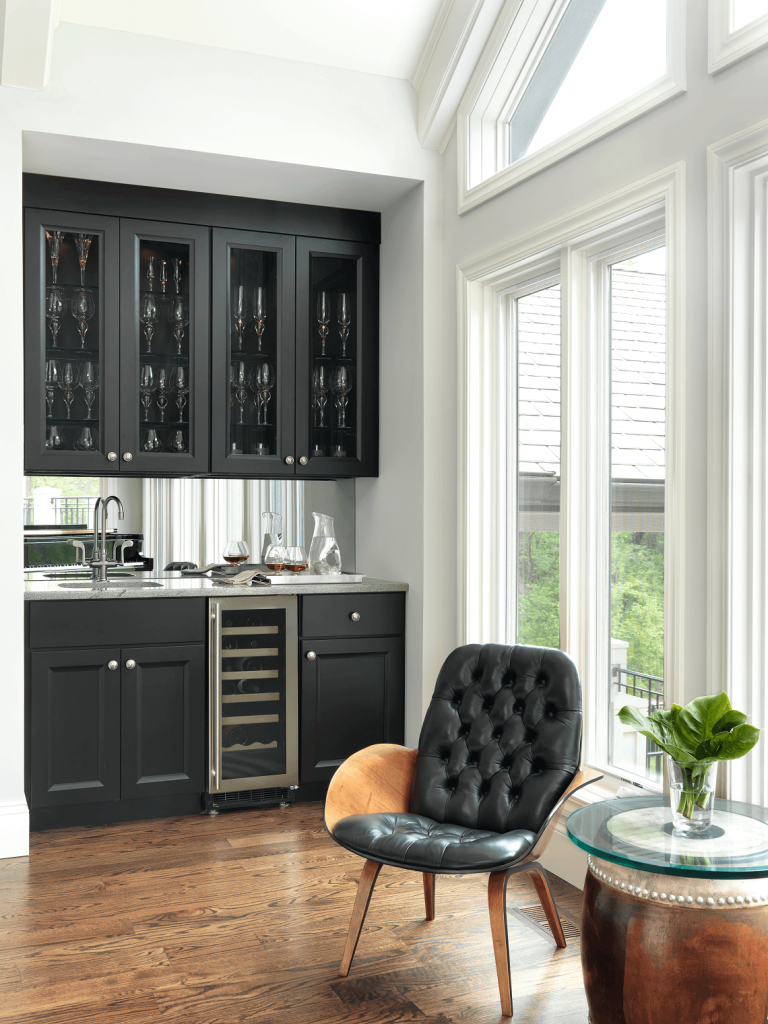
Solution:
[[[419,737],[411,810],[537,833],[579,768],[582,686],[549,647],[470,644],[449,654]]]

